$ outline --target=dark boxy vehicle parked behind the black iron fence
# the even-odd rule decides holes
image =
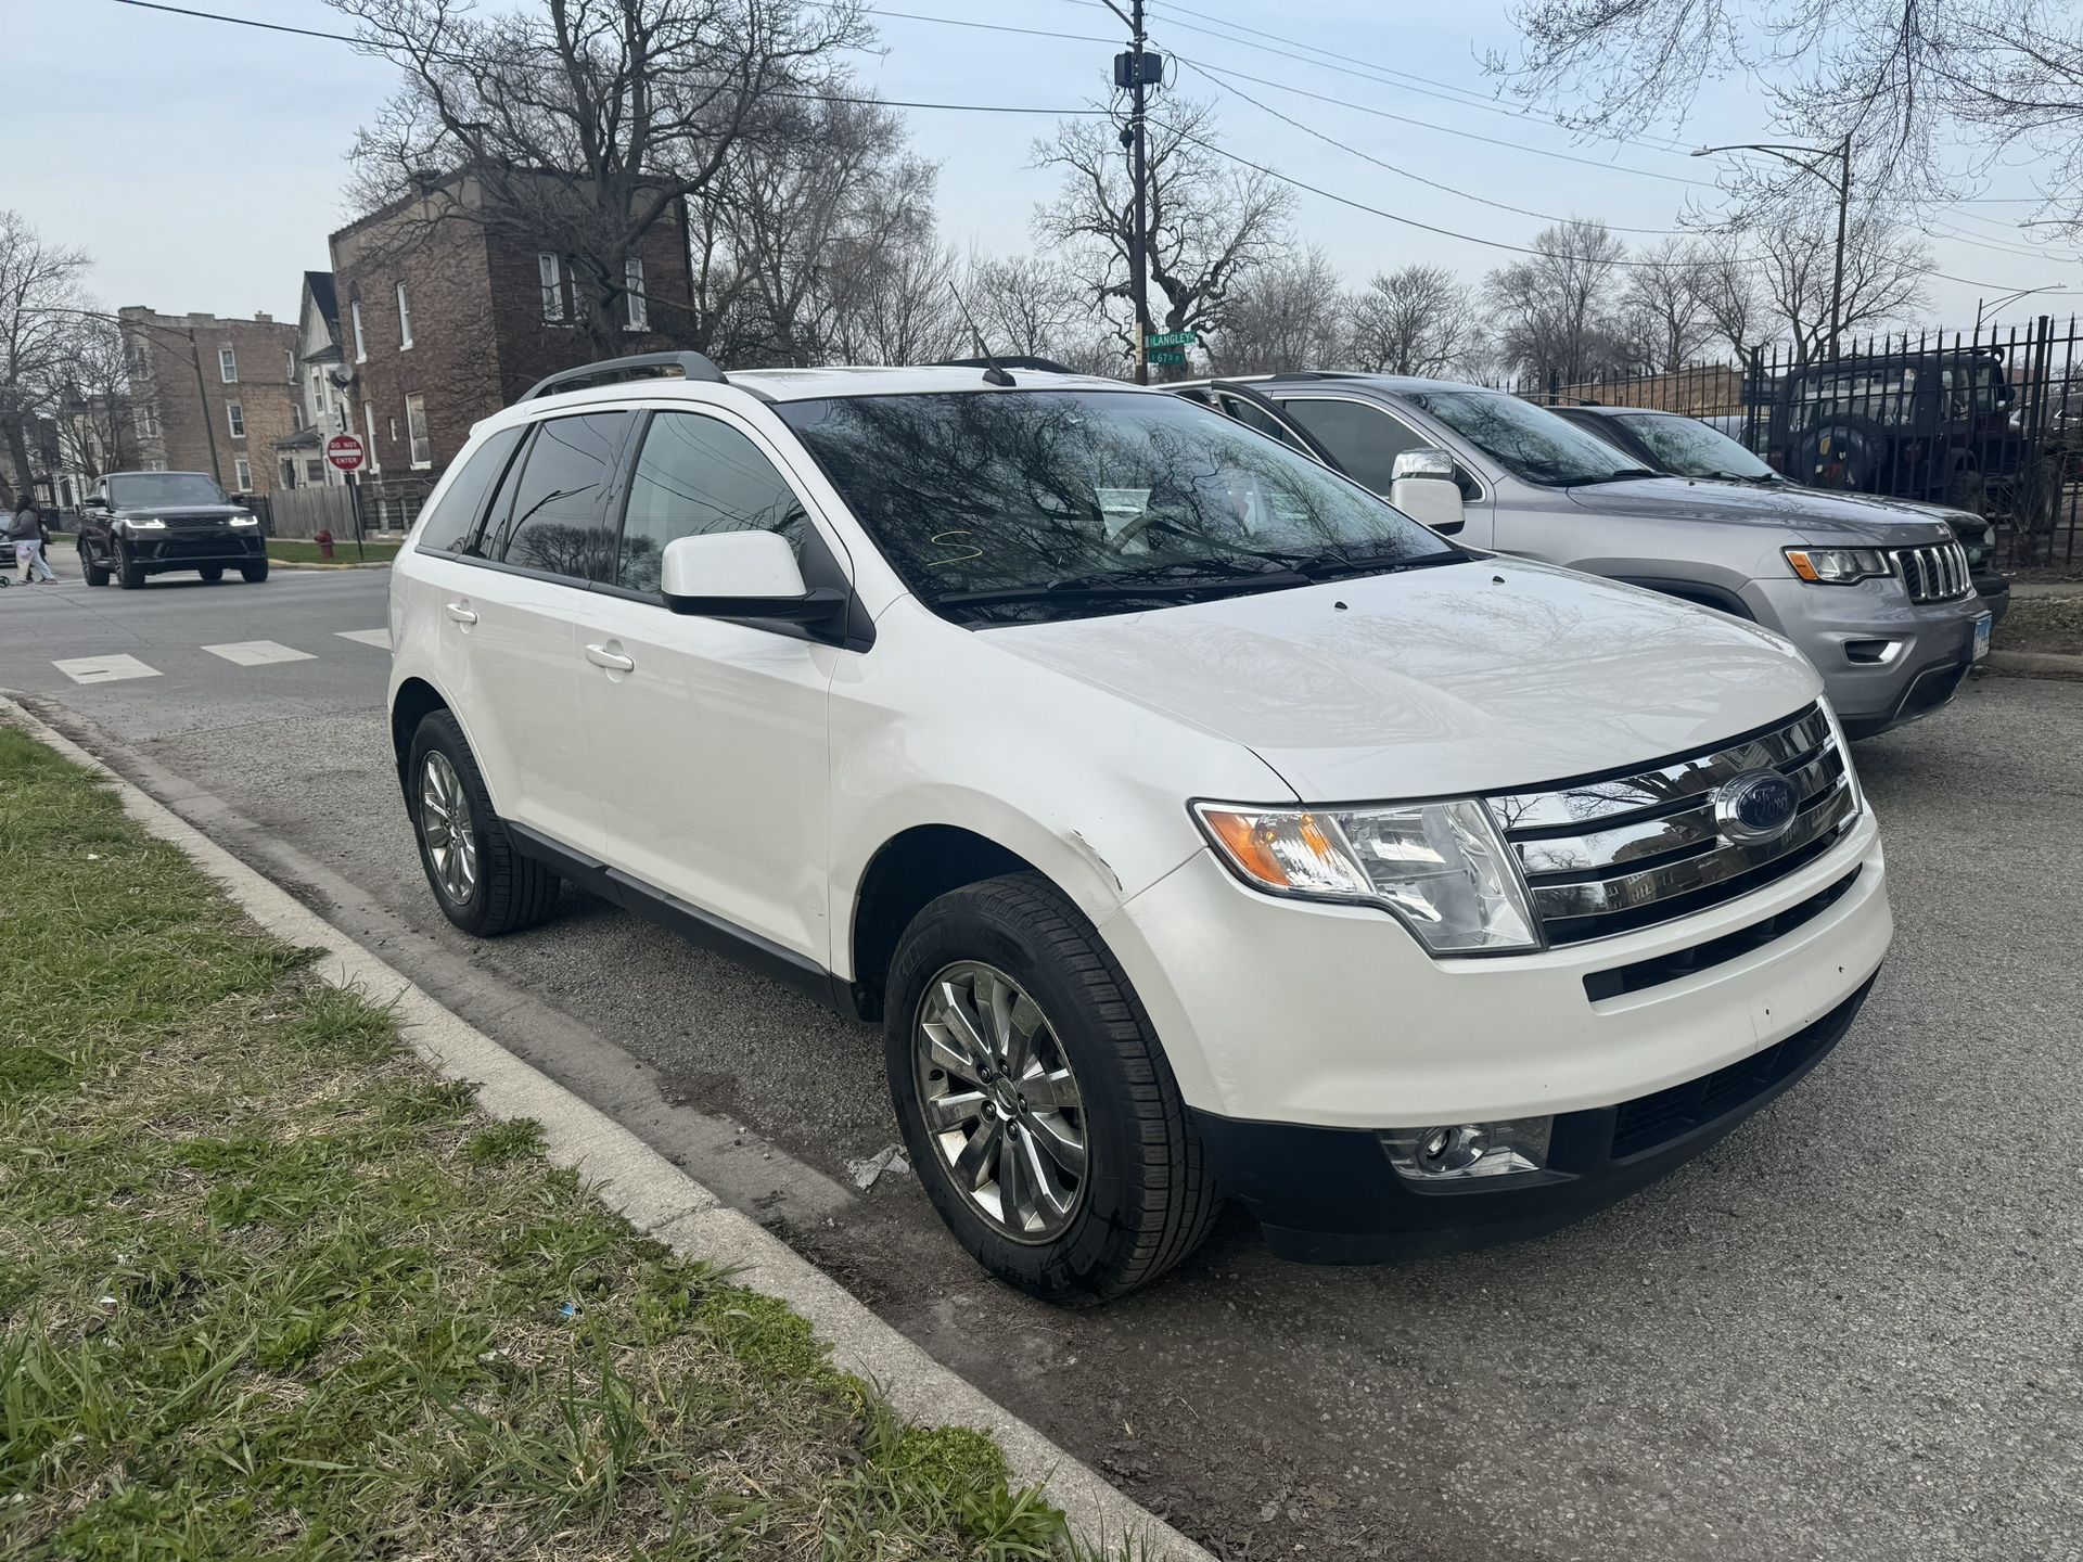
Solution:
[[[1996,348],[1900,350],[1789,369],[1773,385],[1766,460],[1806,487],[1841,487],[2046,521],[2073,458],[2033,437]]]

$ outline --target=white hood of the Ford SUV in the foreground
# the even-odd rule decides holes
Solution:
[[[1685,754],[1821,687],[1752,625],[1502,558],[981,633],[1248,746],[1310,802],[1500,791]]]

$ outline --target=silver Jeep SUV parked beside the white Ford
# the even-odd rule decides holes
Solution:
[[[1452,473],[1427,525],[1721,608],[1791,639],[1852,737],[1948,700],[1993,614],[1939,521],[1802,487],[1689,483],[1504,392],[1400,375],[1296,373],[1169,387],[1394,498],[1404,473]]]

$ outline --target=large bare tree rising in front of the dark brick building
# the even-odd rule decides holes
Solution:
[[[792,137],[869,42],[860,0],[329,0],[402,92],[354,142],[377,208],[467,171],[412,227],[475,223],[571,256],[596,356],[621,350],[627,260],[675,202],[700,198],[748,142]],[[469,190],[475,198],[465,198]],[[671,306],[673,300],[652,300]]]

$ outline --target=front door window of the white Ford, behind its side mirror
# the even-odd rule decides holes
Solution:
[[[658,412],[629,479],[614,583],[656,591],[667,544],[712,531],[773,531],[802,558],[804,525],[796,492],[748,435],[700,412]]]

